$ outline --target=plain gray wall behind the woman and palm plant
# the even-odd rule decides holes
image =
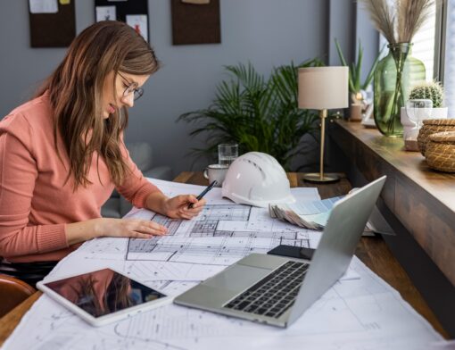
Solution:
[[[343,4],[352,8],[351,0]],[[145,96],[130,111],[127,142],[150,143],[154,163],[169,164],[175,174],[188,170],[192,159],[186,154],[201,141],[188,137],[192,126],[176,119],[211,104],[214,88],[226,77],[222,66],[250,61],[267,74],[272,66],[315,56],[332,63],[328,47],[334,31],[343,50],[352,50],[352,24],[337,20],[337,8],[355,19],[355,13],[340,7],[338,0],[220,0],[221,44],[172,46],[170,1],[149,0],[150,41],[163,67],[148,80]],[[78,32],[94,17],[93,0],[76,1]],[[62,60],[65,49],[29,47],[26,0],[0,4],[0,47],[0,116],[4,116],[33,94]]]

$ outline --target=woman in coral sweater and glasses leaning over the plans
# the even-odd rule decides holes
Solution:
[[[87,239],[166,233],[153,221],[101,218],[114,187],[137,207],[171,218],[202,210],[195,196],[164,196],[123,142],[127,109],[158,68],[134,29],[95,23],[74,39],[37,97],[0,121],[0,273],[33,283]]]

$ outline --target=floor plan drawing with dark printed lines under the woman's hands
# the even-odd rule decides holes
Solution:
[[[249,205],[207,204],[191,223],[155,214],[151,220],[168,228],[167,237],[130,238],[126,260],[229,265],[281,244],[310,247],[308,232],[303,229],[246,230],[258,226],[253,219],[259,211]]]

